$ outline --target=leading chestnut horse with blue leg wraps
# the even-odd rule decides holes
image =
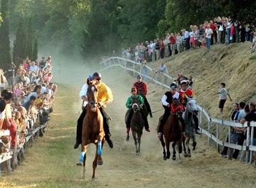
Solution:
[[[88,85],[87,91],[88,105],[86,106],[86,116],[83,122],[82,131],[82,153],[79,158],[77,165],[83,165],[82,178],[85,179],[86,175],[86,152],[89,144],[93,143],[96,145],[96,153],[94,161],[92,162],[92,179],[95,179],[95,170],[98,165],[103,164],[102,160],[102,148],[104,145],[104,129],[103,129],[103,118],[100,113],[98,106],[98,87],[96,85]],[[83,162],[81,162],[81,160]]]

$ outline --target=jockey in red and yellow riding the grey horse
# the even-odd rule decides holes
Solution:
[[[179,91],[180,95],[181,95],[181,99],[182,102],[184,104],[184,97],[194,97],[194,91],[192,89],[187,89],[188,84],[187,81],[181,81],[181,90]],[[196,134],[201,134],[200,130],[199,130],[199,122],[198,122],[198,118],[196,115],[193,114],[193,120],[195,122],[195,133]]]

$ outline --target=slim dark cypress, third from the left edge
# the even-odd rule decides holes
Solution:
[[[32,17],[28,18],[27,32],[26,32],[26,48],[25,56],[32,58],[33,51],[33,27],[32,27]]]

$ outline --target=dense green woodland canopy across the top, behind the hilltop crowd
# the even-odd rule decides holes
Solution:
[[[1,1],[1,36],[22,42],[32,54],[34,39],[38,52],[82,56],[85,60],[119,52],[137,42],[179,32],[217,16],[255,24],[253,0],[7,0],[9,20]],[[5,3],[6,5],[8,3]],[[0,17],[0,19],[1,19]],[[28,25],[31,17],[31,23]],[[24,20],[20,26],[21,18]],[[9,24],[9,23],[10,24]],[[32,29],[28,29],[32,27]],[[4,28],[4,30],[3,30]],[[3,40],[3,39],[2,39]],[[22,44],[19,44],[22,45]],[[29,45],[29,46],[28,46]],[[3,46],[3,45],[2,45]],[[13,47],[14,48],[14,47]],[[8,50],[8,49],[7,49]],[[13,54],[14,55],[14,54]],[[20,54],[19,54],[20,55]],[[33,55],[34,56],[34,55]],[[9,62],[9,60],[7,60]]]

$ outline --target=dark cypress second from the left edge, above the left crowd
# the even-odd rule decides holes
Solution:
[[[25,58],[25,48],[26,48],[26,37],[24,34],[23,19],[20,20],[19,28],[16,32],[16,38],[13,45],[13,62],[22,62]]]

